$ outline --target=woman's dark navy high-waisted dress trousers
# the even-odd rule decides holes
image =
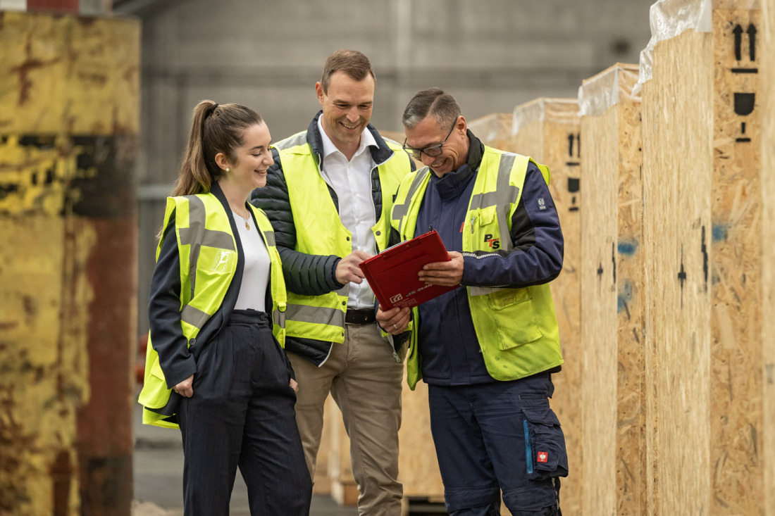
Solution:
[[[288,363],[268,316],[236,310],[214,339],[191,352],[197,363],[194,395],[182,398],[177,414],[184,514],[229,514],[239,466],[252,516],[306,516],[312,480],[296,426]]]

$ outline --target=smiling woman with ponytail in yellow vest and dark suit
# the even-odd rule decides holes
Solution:
[[[229,514],[238,466],[253,516],[309,512],[280,256],[247,202],[267,182],[270,143],[252,109],[200,102],[167,198],[140,404],[144,423],[181,429],[187,516]]]

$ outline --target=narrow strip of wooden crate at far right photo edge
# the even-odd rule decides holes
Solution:
[[[762,2],[762,51],[760,53],[760,113],[762,166],[762,306],[761,338],[763,363],[751,371],[763,383],[763,464],[764,511],[775,514],[775,0]]]

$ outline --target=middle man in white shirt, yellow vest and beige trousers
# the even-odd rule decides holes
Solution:
[[[308,129],[274,146],[267,186],[253,192],[274,226],[288,288],[285,349],[296,421],[312,478],[329,392],[350,435],[360,514],[401,514],[398,428],[405,346],[381,332],[360,262],[387,247],[401,178],[414,169],[401,145],[369,119],[374,72],[363,53],[329,56]]]

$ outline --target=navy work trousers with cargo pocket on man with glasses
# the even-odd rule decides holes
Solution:
[[[429,385],[431,432],[453,516],[559,516],[568,461],[549,408],[551,374],[456,387]]]

